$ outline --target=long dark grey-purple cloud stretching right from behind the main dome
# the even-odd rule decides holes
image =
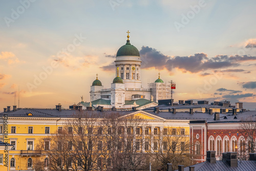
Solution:
[[[210,69],[222,69],[227,67],[237,67],[241,61],[256,60],[256,56],[247,55],[216,55],[208,57],[205,53],[196,53],[190,56],[167,56],[154,48],[143,46],[140,50],[142,60],[141,68],[155,68],[157,70],[167,69],[172,71],[177,68],[183,72],[198,73]],[[102,69],[110,70],[113,63],[103,66]],[[114,68],[113,68],[114,69]],[[241,70],[226,70],[226,72],[242,72]]]

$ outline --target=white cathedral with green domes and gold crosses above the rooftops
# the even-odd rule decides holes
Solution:
[[[78,103],[83,109],[87,106],[103,106],[104,109],[144,109],[158,105],[160,99],[170,99],[171,83],[164,83],[160,76],[155,82],[149,83],[148,88],[142,88],[140,53],[131,45],[129,37],[128,31],[126,44],[117,51],[116,77],[111,83],[111,88],[104,89],[97,76],[91,86],[90,102],[82,100]]]

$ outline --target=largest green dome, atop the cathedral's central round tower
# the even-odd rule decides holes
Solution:
[[[116,56],[140,56],[140,53],[130,44],[130,40],[127,40],[126,44],[118,49]]]

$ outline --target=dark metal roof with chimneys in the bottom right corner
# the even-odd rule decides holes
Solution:
[[[222,161],[222,160],[217,160],[216,163],[212,163],[212,164],[209,161],[205,161],[205,162],[198,163],[198,164],[195,164],[192,166],[195,167],[195,171],[205,171],[205,170],[255,171],[256,170],[256,161],[241,160],[241,161],[238,161],[237,167],[230,167],[226,161]],[[175,171],[178,171],[178,170],[175,170]],[[185,167],[184,171],[189,171],[189,167]]]

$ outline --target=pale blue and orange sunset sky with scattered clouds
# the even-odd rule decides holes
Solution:
[[[142,86],[176,82],[174,101],[243,102],[256,109],[256,1],[4,1],[0,6],[0,112],[64,108],[98,74],[108,89],[117,50],[142,59]],[[19,96],[19,101],[18,101]]]

